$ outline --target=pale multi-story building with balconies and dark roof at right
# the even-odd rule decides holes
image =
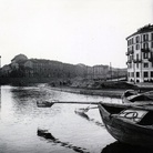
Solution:
[[[128,80],[130,82],[153,81],[153,26],[139,29],[126,38]]]

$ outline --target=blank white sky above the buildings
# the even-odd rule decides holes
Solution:
[[[153,0],[0,0],[1,67],[29,59],[126,68],[126,38],[153,23]]]

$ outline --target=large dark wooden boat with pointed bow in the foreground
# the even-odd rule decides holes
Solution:
[[[153,147],[153,105],[99,103],[108,132],[118,141]]]

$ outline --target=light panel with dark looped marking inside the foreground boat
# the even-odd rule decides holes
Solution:
[[[144,115],[147,113],[147,111],[144,110],[124,110],[119,114],[119,118],[122,118],[123,120],[131,121],[131,122],[140,122]]]

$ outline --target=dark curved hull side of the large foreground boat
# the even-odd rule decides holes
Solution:
[[[99,110],[108,132],[115,140],[131,145],[153,147],[153,129],[114,118],[102,104],[99,104]]]

